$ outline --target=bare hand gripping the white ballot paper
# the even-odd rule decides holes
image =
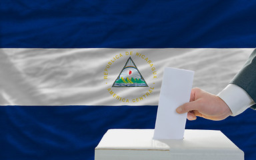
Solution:
[[[199,88],[191,90],[190,102],[179,106],[177,113],[187,113],[187,119],[195,120],[197,116],[219,121],[232,115],[229,106],[217,95]]]

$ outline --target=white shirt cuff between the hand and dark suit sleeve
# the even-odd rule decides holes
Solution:
[[[223,99],[229,106],[233,113],[232,116],[239,115],[245,109],[255,104],[245,90],[234,84],[227,85],[217,96]]]

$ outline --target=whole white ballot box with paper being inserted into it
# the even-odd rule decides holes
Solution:
[[[186,129],[184,138],[153,139],[153,129],[109,129],[95,160],[242,160],[244,154],[221,131]]]

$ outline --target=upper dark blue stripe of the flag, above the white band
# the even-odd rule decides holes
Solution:
[[[0,47],[255,47],[253,1],[3,1]]]

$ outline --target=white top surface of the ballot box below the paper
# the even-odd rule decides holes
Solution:
[[[153,129],[109,129],[95,149],[243,154],[221,131],[185,129],[181,140],[155,140],[153,133]]]

